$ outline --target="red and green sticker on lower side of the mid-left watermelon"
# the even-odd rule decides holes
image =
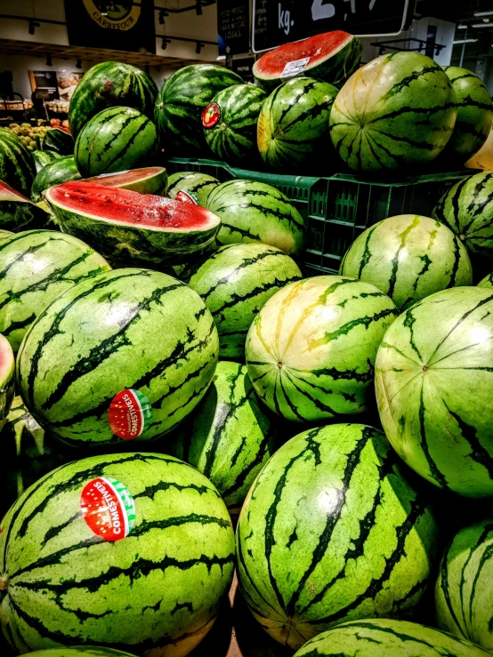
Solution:
[[[109,405],[108,419],[114,434],[124,440],[132,440],[149,427],[152,406],[140,390],[122,390]]]

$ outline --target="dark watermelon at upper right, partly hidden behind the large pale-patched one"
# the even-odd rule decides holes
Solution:
[[[447,66],[443,70],[456,92],[457,120],[441,158],[449,167],[454,163],[461,166],[488,139],[493,123],[491,96],[481,78],[467,68]]]

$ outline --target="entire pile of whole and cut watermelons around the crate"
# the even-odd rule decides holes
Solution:
[[[394,180],[489,137],[473,74],[314,38],[255,86],[98,64],[34,155],[0,128],[5,653],[223,654],[235,569],[271,654],[493,653],[493,172],[312,277],[280,184],[166,172]]]

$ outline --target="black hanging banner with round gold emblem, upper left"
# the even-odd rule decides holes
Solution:
[[[70,45],[156,52],[153,0],[65,0]]]

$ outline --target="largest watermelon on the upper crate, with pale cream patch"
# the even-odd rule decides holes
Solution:
[[[392,52],[344,84],[330,111],[330,136],[355,172],[416,170],[440,155],[456,115],[456,94],[436,62]]]

